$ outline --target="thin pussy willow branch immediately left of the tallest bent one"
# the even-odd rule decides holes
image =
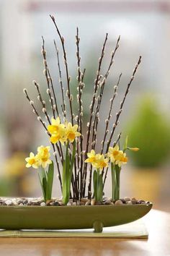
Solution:
[[[62,80],[62,75],[61,75],[61,64],[60,64],[60,59],[59,59],[59,52],[58,52],[58,48],[56,46],[55,40],[54,40],[54,45],[55,45],[55,51],[57,54],[57,60],[58,60],[58,72],[59,72],[59,82],[61,85],[61,95],[62,95],[62,112],[63,112],[63,116],[64,116],[64,121],[66,120],[66,102],[64,99],[64,88],[63,88],[63,80]]]

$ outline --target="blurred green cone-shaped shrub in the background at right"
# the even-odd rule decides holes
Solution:
[[[140,100],[136,114],[130,120],[129,145],[140,148],[131,154],[134,163],[141,167],[161,166],[170,153],[170,126],[159,101],[146,96]]]

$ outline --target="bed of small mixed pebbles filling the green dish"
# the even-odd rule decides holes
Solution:
[[[145,205],[150,202],[144,200],[137,200],[135,197],[124,197],[120,200],[112,200],[112,198],[104,198],[103,202],[98,202],[95,199],[89,200],[88,198],[81,198],[81,200],[69,200],[67,205]],[[27,197],[19,197],[19,198],[1,198],[0,197],[0,205],[39,205],[39,206],[66,206],[63,204],[62,199],[53,198],[45,202],[42,197],[38,198],[27,198]]]

